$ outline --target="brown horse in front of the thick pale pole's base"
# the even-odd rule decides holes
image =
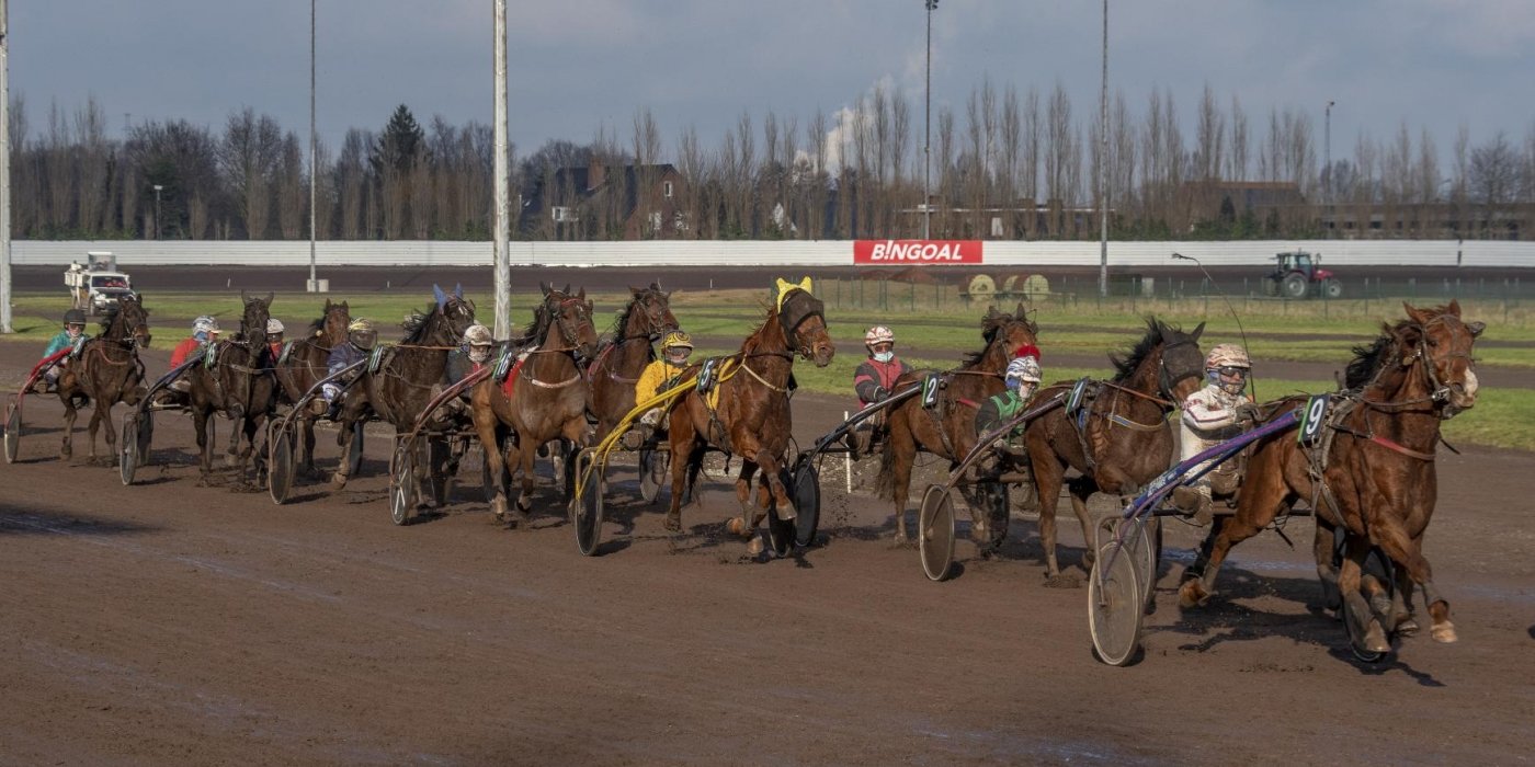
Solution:
[[[500,522],[507,520],[511,463],[522,469],[516,509],[517,520],[527,522],[533,508],[533,457],[539,446],[554,439],[576,445],[577,449],[588,443],[588,393],[582,360],[591,359],[597,350],[591,301],[586,301],[586,288],[571,295],[569,287],[539,287],[543,290],[543,301],[523,334],[523,342],[536,347],[522,351],[505,382],[487,379],[470,396],[474,430],[496,488],[491,511]],[[632,391],[631,388],[631,400]],[[508,428],[514,439],[500,439],[508,434]]]

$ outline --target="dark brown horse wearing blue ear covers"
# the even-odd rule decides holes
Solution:
[[[368,413],[391,423],[396,434],[408,433],[442,384],[448,351],[459,347],[464,331],[474,324],[474,302],[464,298],[462,285],[453,293],[431,285],[431,308],[404,322],[405,337],[393,347],[375,347],[373,362],[364,365],[362,373],[347,387],[336,417],[341,423],[336,443],[341,445],[342,456],[350,454],[347,448],[352,440],[362,439],[361,423]],[[416,468],[419,482],[425,479],[431,462],[418,462]],[[350,471],[348,462],[342,460],[332,474],[332,485],[336,489],[345,488]],[[431,503],[421,494],[416,497]]]

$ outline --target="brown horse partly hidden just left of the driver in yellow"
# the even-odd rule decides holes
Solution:
[[[652,344],[672,330],[677,318],[671,313],[671,293],[660,284],[629,288],[634,298],[612,325],[612,341],[597,350],[597,359],[586,368],[591,385],[591,411],[597,417],[596,439],[602,440],[634,410],[634,384],[655,359]]]

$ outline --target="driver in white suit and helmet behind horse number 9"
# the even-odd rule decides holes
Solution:
[[[1242,434],[1242,422],[1257,420],[1259,408],[1245,394],[1251,370],[1246,350],[1236,344],[1217,344],[1210,350],[1205,357],[1205,387],[1183,400],[1179,460],[1188,460]],[[1193,515],[1199,525],[1210,525],[1211,520],[1211,474],[1214,472],[1173,491],[1173,505]]]

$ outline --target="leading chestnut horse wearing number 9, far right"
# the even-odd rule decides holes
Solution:
[[[1203,572],[1179,591],[1188,607],[1210,598],[1216,574],[1231,546],[1266,528],[1297,500],[1317,514],[1317,569],[1323,583],[1335,581],[1357,620],[1362,644],[1388,652],[1386,632],[1405,634],[1411,623],[1412,586],[1423,588],[1435,641],[1455,641],[1449,603],[1434,588],[1423,557],[1423,532],[1438,495],[1434,449],[1440,423],[1477,403],[1472,345],[1486,328],[1463,322],[1460,302],[1446,307],[1406,307],[1408,319],[1383,325],[1369,347],[1354,350],[1345,390],[1335,394],[1317,448],[1303,448],[1283,433],[1254,445],[1236,515],[1225,520],[1207,543]],[[1303,400],[1282,400],[1283,413]],[[1320,482],[1317,482],[1320,479]],[[1342,572],[1332,571],[1331,529],[1346,531]],[[1362,566],[1371,545],[1397,565],[1397,595],[1391,626],[1382,626],[1360,592]]]

